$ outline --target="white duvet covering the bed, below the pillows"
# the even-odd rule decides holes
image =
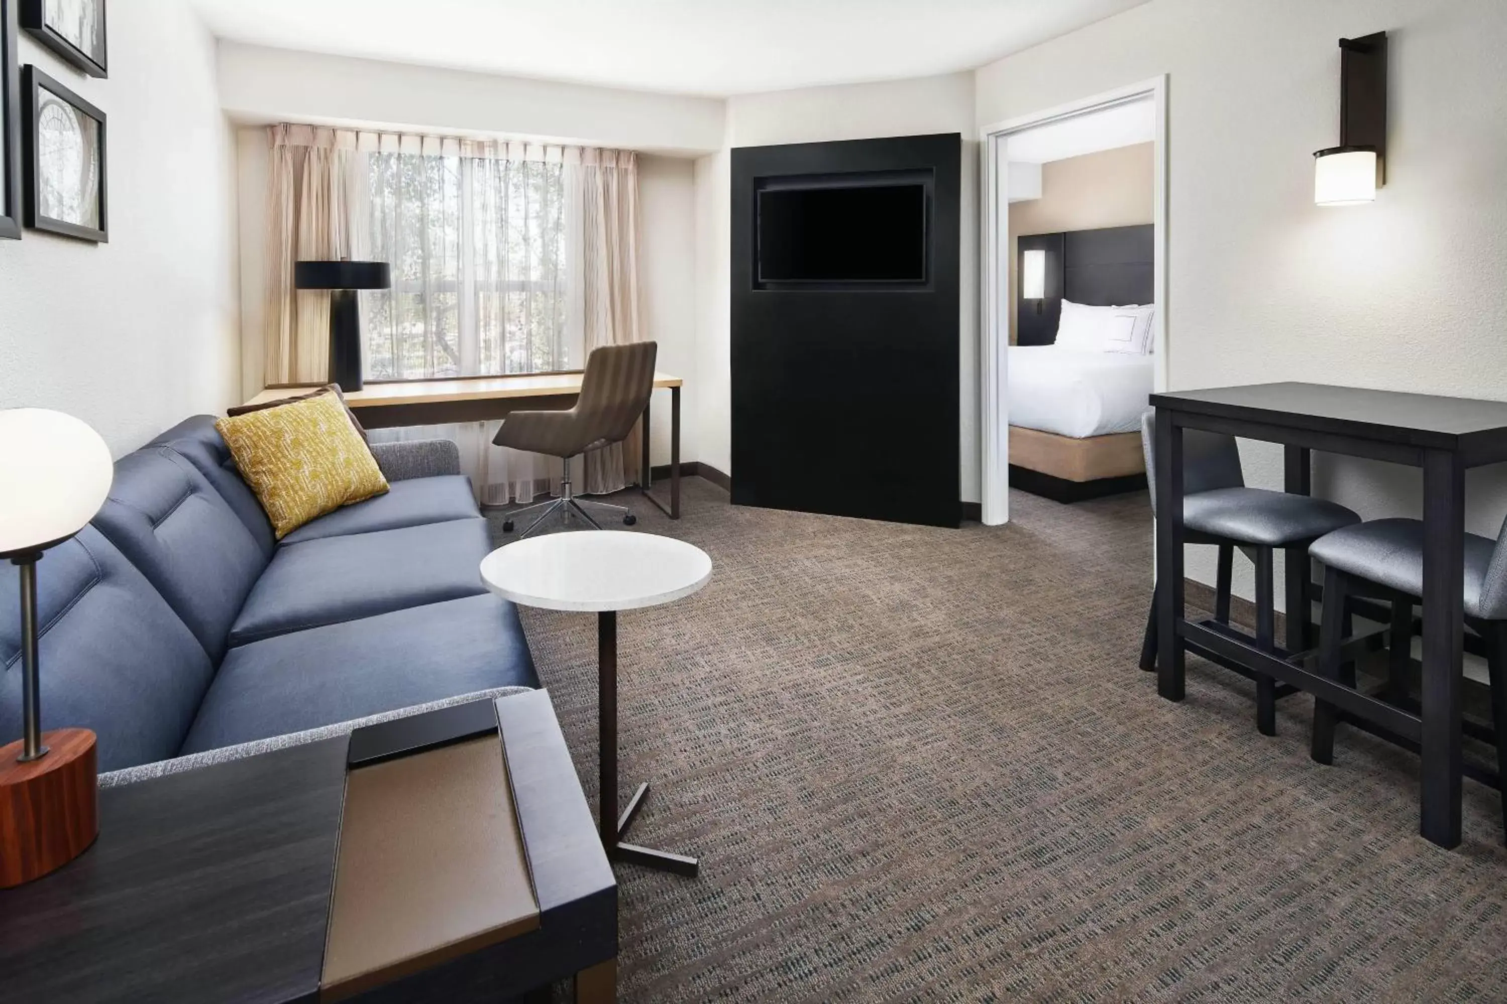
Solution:
[[[1141,429],[1153,355],[1011,345],[1010,424],[1084,440]]]

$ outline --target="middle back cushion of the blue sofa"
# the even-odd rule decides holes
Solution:
[[[130,453],[93,525],[219,661],[267,557],[203,474],[166,447]]]

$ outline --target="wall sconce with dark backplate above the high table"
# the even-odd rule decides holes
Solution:
[[[1386,181],[1386,32],[1340,39],[1340,146],[1314,152],[1314,205],[1374,202]]]

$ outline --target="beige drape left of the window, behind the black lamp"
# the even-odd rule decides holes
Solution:
[[[268,384],[318,382],[330,372],[330,294],[294,289],[292,266],[300,260],[354,257],[360,185],[350,137],[312,125],[268,129]]]

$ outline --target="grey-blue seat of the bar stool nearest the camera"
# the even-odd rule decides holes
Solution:
[[[1481,620],[1507,617],[1507,610],[1484,610],[1481,593],[1496,542],[1465,534],[1465,614]],[[1408,596],[1423,596],[1423,521],[1371,519],[1319,537],[1308,554],[1325,567],[1385,586]]]

